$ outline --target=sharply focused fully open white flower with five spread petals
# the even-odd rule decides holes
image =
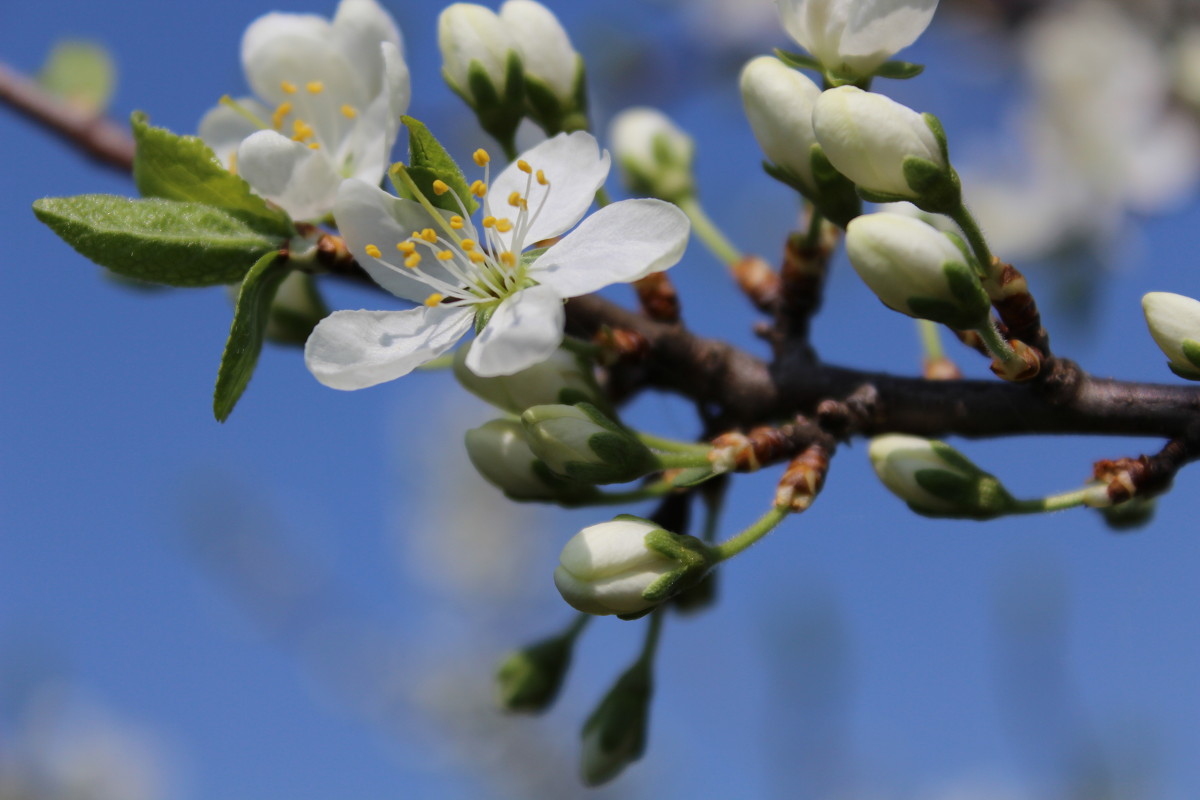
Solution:
[[[308,369],[334,389],[408,374],[451,349],[474,325],[466,365],[508,375],[550,357],[563,341],[563,300],[665,270],[683,255],[690,225],[661,200],[623,200],[593,213],[547,249],[524,251],[572,228],[608,174],[608,154],[582,131],[542,142],[488,186],[488,156],[466,210],[432,217],[414,200],[346,181],[335,216],[359,263],[408,311],[340,311],[305,348]],[[446,191],[445,185],[434,191]],[[524,254],[522,254],[524,253]]]

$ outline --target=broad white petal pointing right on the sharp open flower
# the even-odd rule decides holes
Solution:
[[[671,203],[622,200],[600,209],[542,253],[529,276],[563,297],[636,281],[677,264],[690,230],[686,215]]]

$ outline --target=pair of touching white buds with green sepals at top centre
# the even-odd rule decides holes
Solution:
[[[534,0],[499,13],[456,2],[438,19],[442,74],[502,143],[524,116],[547,134],[587,128],[583,59],[554,14]]]

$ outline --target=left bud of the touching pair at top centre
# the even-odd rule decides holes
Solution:
[[[470,106],[485,131],[511,142],[524,115],[521,48],[500,18],[473,2],[438,17],[442,76]]]

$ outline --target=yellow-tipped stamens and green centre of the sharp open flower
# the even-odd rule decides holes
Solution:
[[[526,236],[550,197],[550,180],[541,169],[534,169],[523,160],[517,161],[517,169],[527,175],[524,192],[510,192],[504,200],[514,210],[512,216],[498,216],[491,207],[488,191],[491,156],[480,149],[472,158],[476,166],[484,168],[484,179],[476,180],[469,188],[473,196],[482,200],[482,218],[479,227],[472,221],[462,198],[449,185],[440,180],[433,181],[436,196],[450,193],[458,205],[460,213],[446,218],[421,193],[408,173],[403,168],[398,169],[398,176],[406,187],[442,228],[440,233],[433,228],[415,230],[408,239],[395,243],[403,271],[433,289],[433,294],[425,300],[426,306],[436,306],[444,301],[493,305],[534,284],[527,275],[527,265],[521,253],[524,249]],[[535,186],[542,191],[536,206],[530,210],[529,197]],[[390,258],[384,258],[379,246],[372,243],[364,249],[367,255],[379,259],[390,269],[401,271]],[[436,261],[434,270],[426,270],[422,266],[428,261]]]

